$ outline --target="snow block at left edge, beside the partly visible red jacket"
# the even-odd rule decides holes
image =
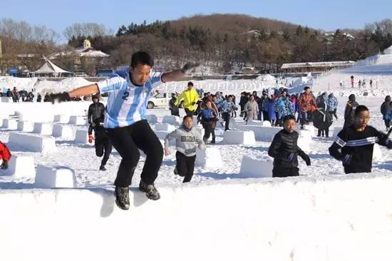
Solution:
[[[34,178],[36,170],[31,156],[12,155],[6,170],[0,170],[0,175],[13,175],[15,178]]]

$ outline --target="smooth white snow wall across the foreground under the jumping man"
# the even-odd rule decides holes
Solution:
[[[392,176],[0,190],[0,260],[391,260]]]

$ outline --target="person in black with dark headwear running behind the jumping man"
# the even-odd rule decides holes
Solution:
[[[96,155],[102,157],[99,170],[106,170],[105,165],[108,162],[110,153],[112,153],[112,143],[105,128],[103,128],[103,120],[105,117],[105,106],[99,102],[98,96],[93,96],[93,104],[88,107],[88,142],[93,142],[93,130],[95,134],[94,146],[96,147]]]

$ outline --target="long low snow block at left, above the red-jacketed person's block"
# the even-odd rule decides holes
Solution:
[[[32,152],[48,153],[56,151],[55,140],[51,137],[39,137],[31,134],[10,133],[9,143]]]

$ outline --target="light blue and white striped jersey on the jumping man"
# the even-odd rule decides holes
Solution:
[[[153,73],[143,86],[135,86],[127,71],[118,71],[97,83],[100,93],[108,93],[105,128],[130,126],[145,120],[148,99],[153,88],[163,83],[163,73]]]

